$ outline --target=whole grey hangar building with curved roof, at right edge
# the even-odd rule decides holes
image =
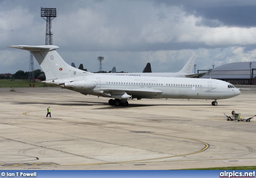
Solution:
[[[250,85],[250,72],[253,71],[252,82],[256,85],[256,62],[235,62],[224,64],[214,69],[211,69],[202,78],[212,78],[227,81],[232,84]]]

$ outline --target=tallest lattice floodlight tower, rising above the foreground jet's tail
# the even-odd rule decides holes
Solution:
[[[41,17],[46,20],[46,38],[45,45],[52,45],[52,19],[57,17],[56,8],[42,8]]]

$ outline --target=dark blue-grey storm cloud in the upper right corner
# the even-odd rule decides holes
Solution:
[[[155,0],[155,3],[179,6],[187,14],[201,17],[198,25],[216,26],[256,26],[256,1],[252,0]]]

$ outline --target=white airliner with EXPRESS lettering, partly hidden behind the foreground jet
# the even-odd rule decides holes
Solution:
[[[178,71],[178,72],[153,72],[153,73],[102,73],[103,75],[122,75],[122,76],[147,76],[147,77],[193,77],[195,74],[193,73],[193,67],[194,67],[194,63],[195,63],[195,57],[190,57],[190,59],[188,60],[188,62],[184,65],[184,67]],[[116,68],[116,67],[115,67]],[[114,67],[113,67],[114,69]],[[113,70],[112,69],[112,70]]]

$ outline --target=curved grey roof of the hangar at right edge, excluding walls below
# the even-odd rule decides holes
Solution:
[[[256,62],[252,62],[252,69],[256,69]],[[253,78],[256,77],[254,70]],[[202,78],[213,79],[250,79],[250,62],[228,63],[216,67],[206,73]]]

